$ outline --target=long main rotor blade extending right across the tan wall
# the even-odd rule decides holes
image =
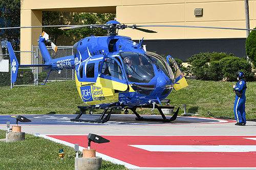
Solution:
[[[241,29],[241,28],[225,28],[225,27],[201,27],[201,26],[173,26],[173,25],[141,25],[141,26],[127,26],[129,28],[138,29],[137,27],[179,27],[179,28],[207,28],[207,29],[226,29],[226,30],[249,30],[256,31],[255,29]]]

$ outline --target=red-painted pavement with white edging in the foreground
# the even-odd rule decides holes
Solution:
[[[44,136],[44,135],[43,135]],[[87,147],[87,135],[45,135],[44,137],[73,147],[78,143],[80,147]],[[208,135],[208,136],[114,136],[102,135],[109,139],[109,143],[92,143],[91,148],[96,149],[97,155],[112,162],[124,164],[128,168],[256,168],[256,136],[236,135]],[[133,147],[132,145],[163,145],[190,146],[197,148],[203,146],[201,152],[158,152]],[[251,148],[246,151],[241,148]],[[217,152],[208,150],[213,147],[223,147]],[[206,147],[206,149],[205,149]],[[239,148],[226,152],[225,148]],[[255,150],[255,151],[254,151]]]

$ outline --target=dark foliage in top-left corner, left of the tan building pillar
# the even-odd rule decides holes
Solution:
[[[20,26],[20,0],[0,0],[0,27]],[[0,31],[0,39],[5,38],[12,43],[14,50],[19,50],[19,29]]]

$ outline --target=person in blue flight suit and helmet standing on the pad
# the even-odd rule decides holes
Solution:
[[[233,85],[233,90],[236,92],[236,100],[234,100],[234,117],[237,123],[234,125],[245,126],[245,91],[246,91],[246,80],[244,79],[245,74],[243,71],[237,72],[238,82]]]

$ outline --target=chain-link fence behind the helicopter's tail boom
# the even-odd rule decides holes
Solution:
[[[53,59],[73,55],[72,46],[58,46],[57,53],[55,53],[49,46],[47,47],[47,50]],[[44,60],[41,57],[38,46],[33,46],[32,51],[30,52],[16,51],[14,53],[19,64],[21,58],[21,64],[44,64]],[[48,72],[49,70],[42,67],[19,67],[17,80],[12,84],[10,57],[8,54],[0,56],[0,88],[12,88],[13,86],[35,86],[38,85],[38,83],[45,83]],[[47,81],[65,80],[75,80],[74,69],[63,69],[60,72],[51,71]]]

